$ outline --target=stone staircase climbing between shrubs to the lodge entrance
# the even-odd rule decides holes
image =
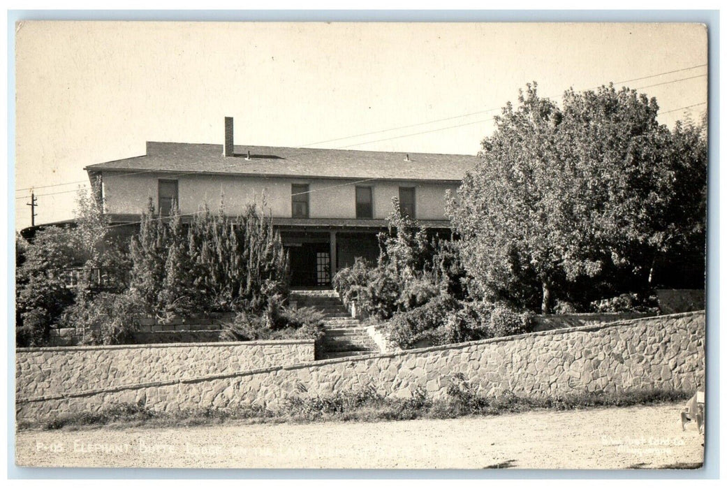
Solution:
[[[292,290],[289,301],[298,307],[313,306],[326,314],[320,359],[378,353],[376,343],[358,319],[351,317],[335,290]]]

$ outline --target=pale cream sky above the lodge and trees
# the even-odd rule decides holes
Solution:
[[[698,119],[697,24],[25,22],[16,28],[16,228],[73,217],[89,164],[145,141],[476,154],[518,90],[613,81]]]

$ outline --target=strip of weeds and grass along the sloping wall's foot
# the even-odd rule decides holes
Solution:
[[[386,397],[369,385],[363,389],[340,391],[327,396],[285,399],[275,410],[241,405],[234,408],[184,410],[163,413],[145,405],[117,404],[97,413],[74,413],[35,423],[19,423],[17,429],[80,429],[82,427],[128,428],[179,427],[246,423],[310,423],[321,421],[402,421],[410,419],[449,419],[462,416],[497,416],[532,410],[576,410],[593,407],[625,407],[677,402],[691,393],[668,389],[627,392],[596,392],[561,397],[522,397],[505,392],[499,397],[483,397],[461,376],[454,377],[444,399],[430,399],[424,389],[411,397]]]

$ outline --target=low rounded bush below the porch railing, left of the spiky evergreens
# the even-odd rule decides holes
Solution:
[[[133,343],[142,309],[142,299],[132,291],[81,296],[68,308],[60,325],[84,330],[83,343],[87,345]]]

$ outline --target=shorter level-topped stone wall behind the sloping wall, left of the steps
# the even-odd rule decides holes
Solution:
[[[23,348],[15,387],[17,397],[44,397],[313,359],[313,340]]]

